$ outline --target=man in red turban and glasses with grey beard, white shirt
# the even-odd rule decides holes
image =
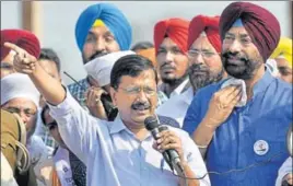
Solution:
[[[190,86],[181,95],[171,97],[157,108],[157,114],[176,119],[180,127],[196,92],[226,77],[220,51],[219,16],[198,15],[189,24],[188,32]]]

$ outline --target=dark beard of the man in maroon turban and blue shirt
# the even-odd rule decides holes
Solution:
[[[242,80],[251,79],[255,71],[259,69],[262,63],[260,56],[253,59],[248,56],[231,51],[222,54],[222,62],[227,74]]]

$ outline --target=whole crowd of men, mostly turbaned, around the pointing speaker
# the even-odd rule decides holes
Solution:
[[[231,2],[131,38],[117,7],[86,8],[87,75],[67,86],[54,49],[1,30],[1,184],[292,185],[292,39],[270,11]]]

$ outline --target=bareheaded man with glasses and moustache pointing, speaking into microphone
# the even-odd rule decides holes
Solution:
[[[149,59],[128,55],[116,61],[110,74],[110,95],[119,115],[115,121],[106,121],[82,109],[60,82],[39,68],[33,56],[13,44],[5,46],[17,51],[16,71],[30,74],[50,103],[51,116],[66,144],[86,164],[86,185],[184,185],[185,179],[174,176],[160,153],[167,149],[178,153],[187,177],[206,173],[200,152],[185,131],[168,127],[154,140],[144,127],[157,103],[157,78]],[[188,185],[209,185],[209,178],[189,179]]]

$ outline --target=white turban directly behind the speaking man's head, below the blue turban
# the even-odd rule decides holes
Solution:
[[[134,51],[117,51],[112,53],[91,60],[84,65],[87,74],[92,75],[99,86],[110,83],[110,71],[115,62],[124,56],[134,55]]]

